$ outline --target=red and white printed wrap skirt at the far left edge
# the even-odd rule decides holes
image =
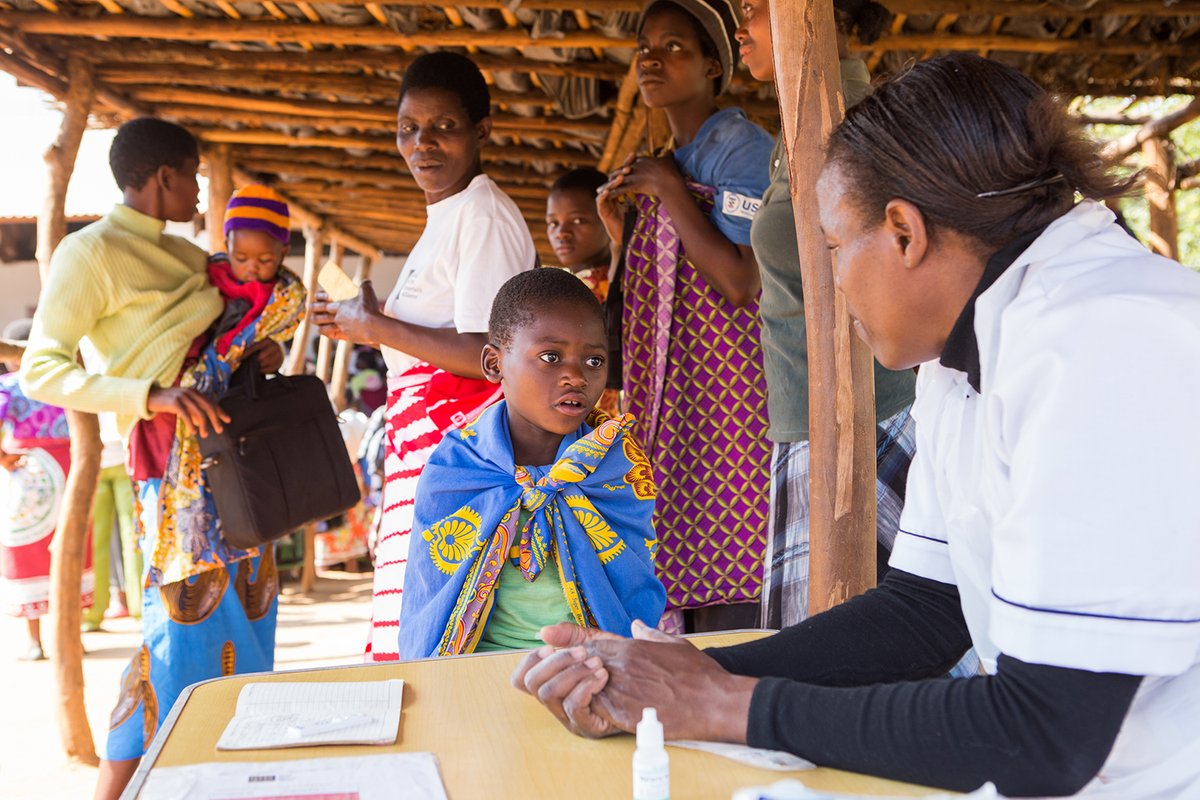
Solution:
[[[6,439],[5,449],[23,451],[25,462],[12,471],[0,469],[0,609],[37,619],[49,609],[50,541],[71,465],[71,443]],[[95,590],[90,542],[83,558],[79,595],[89,608]]]

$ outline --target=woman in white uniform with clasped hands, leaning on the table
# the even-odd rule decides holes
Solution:
[[[847,110],[816,192],[838,285],[881,363],[920,365],[892,571],[733,648],[546,628],[587,646],[516,682],[590,735],[654,705],[670,739],[926,786],[1200,798],[1200,277],[1076,201],[1123,188],[976,55]],[[972,645],[985,674],[944,679]]]

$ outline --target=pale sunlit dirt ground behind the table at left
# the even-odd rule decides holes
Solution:
[[[320,572],[308,596],[298,594],[294,583],[286,583],[280,601],[275,668],[361,662],[370,618],[370,572]],[[130,619],[106,620],[104,628],[83,634],[88,652],[85,703],[97,742],[108,730],[121,670],[142,638],[137,622]],[[0,618],[0,798],[91,798],[95,768],[71,764],[62,754],[50,662],[17,661],[25,649],[24,620]]]

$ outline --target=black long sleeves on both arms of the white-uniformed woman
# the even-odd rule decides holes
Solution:
[[[943,678],[970,646],[958,590],[893,570],[775,636],[707,652],[763,678],[746,729],[756,747],[948,789],[1079,792],[1112,750],[1141,676],[1001,655],[995,675]]]

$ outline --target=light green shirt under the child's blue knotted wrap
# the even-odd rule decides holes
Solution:
[[[522,510],[518,531],[528,518],[529,512]],[[521,570],[506,559],[496,581],[492,613],[475,652],[540,648],[542,640],[538,638],[538,631],[546,625],[574,620],[563,593],[563,581],[558,576],[557,548],[551,547],[551,558],[533,583],[526,581]]]

